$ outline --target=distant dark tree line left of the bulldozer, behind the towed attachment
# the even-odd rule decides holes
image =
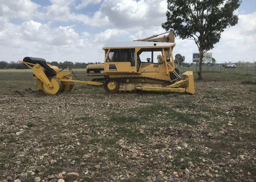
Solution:
[[[71,68],[86,68],[87,65],[89,64],[95,64],[93,62],[88,62],[88,63],[84,63],[84,62],[71,62],[71,61],[64,61],[64,62],[57,62],[57,61],[53,61],[53,62],[46,62],[52,66],[58,66],[59,68],[66,68],[67,66],[71,67]],[[6,62],[6,61],[0,61],[0,69],[29,69],[28,66],[24,65],[22,62],[14,62],[11,61]]]

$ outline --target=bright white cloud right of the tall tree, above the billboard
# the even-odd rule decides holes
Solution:
[[[236,26],[227,28],[213,52],[218,62],[253,61],[256,47],[256,12],[239,15]],[[254,55],[254,56],[252,56]],[[218,59],[217,59],[218,58]]]

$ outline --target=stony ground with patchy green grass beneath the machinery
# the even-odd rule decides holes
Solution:
[[[256,75],[230,70],[200,81],[194,73],[194,95],[107,94],[77,83],[31,97],[15,90],[36,88],[32,72],[0,70],[0,180],[253,182]]]

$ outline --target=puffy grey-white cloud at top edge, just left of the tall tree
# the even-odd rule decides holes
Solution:
[[[100,10],[116,28],[148,29],[161,26],[165,21],[167,3],[164,0],[105,0]]]

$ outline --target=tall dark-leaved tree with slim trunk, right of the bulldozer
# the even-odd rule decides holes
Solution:
[[[239,8],[240,0],[167,0],[167,21],[162,24],[172,30],[180,39],[192,39],[199,50],[198,79],[202,77],[204,52],[214,48],[220,35],[227,26],[234,26],[238,16],[234,11]]]

